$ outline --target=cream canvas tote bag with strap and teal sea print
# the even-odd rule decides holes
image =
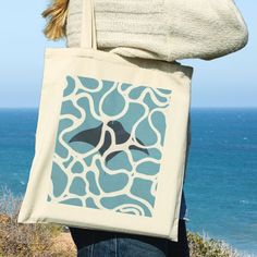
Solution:
[[[178,241],[192,68],[96,48],[46,49],[35,156],[19,223]]]

